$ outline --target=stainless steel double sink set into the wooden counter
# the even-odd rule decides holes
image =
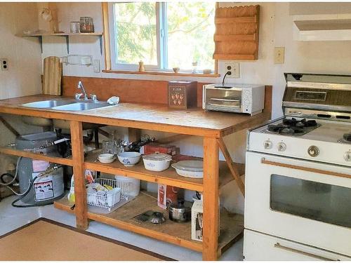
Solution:
[[[88,109],[98,109],[111,106],[107,102],[99,102],[93,100],[42,100],[39,102],[29,102],[21,105],[22,107],[37,109],[55,109],[58,111],[79,112]]]

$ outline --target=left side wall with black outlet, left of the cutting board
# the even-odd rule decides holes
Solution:
[[[0,58],[8,59],[8,71],[0,70],[0,99],[41,93],[38,39],[15,36],[37,27],[37,4],[0,3]]]

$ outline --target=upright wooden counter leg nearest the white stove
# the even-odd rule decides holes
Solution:
[[[216,138],[204,137],[204,224],[202,259],[218,259],[219,189],[218,143]]]

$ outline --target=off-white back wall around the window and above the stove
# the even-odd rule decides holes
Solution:
[[[233,6],[250,3],[220,3],[220,6]],[[290,4],[282,3],[252,3],[260,4],[260,42],[257,61],[240,62],[240,79],[230,79],[234,83],[258,83],[273,86],[273,118],[282,115],[282,95],[284,93],[284,72],[314,72],[329,74],[350,74],[351,72],[351,48],[350,41],[293,41],[293,21],[289,13]],[[319,5],[315,3],[314,5]],[[323,4],[322,4],[323,5]],[[337,4],[333,4],[337,5]],[[351,7],[350,3],[344,3]],[[318,6],[317,6],[318,7]],[[293,6],[293,12],[298,8]],[[311,9],[311,8],[310,8]],[[317,8],[325,9],[325,6]],[[340,8],[339,8],[340,9]],[[304,10],[304,8],[300,8]],[[95,22],[95,31],[102,30],[101,6],[99,3],[60,3],[58,4],[58,16],[60,29],[68,32],[69,21],[77,21],[80,16],[91,16]],[[60,41],[60,42],[59,42]],[[283,65],[274,65],[274,46],[285,47],[285,62]],[[93,55],[100,59],[103,66],[104,60],[100,55],[98,39],[77,38],[72,39],[72,54]],[[44,54],[65,55],[65,41],[56,38],[44,39]],[[219,73],[225,72],[223,61],[218,64]],[[198,80],[203,82],[219,82],[218,78],[187,78],[173,76],[140,76],[126,74],[103,74],[93,73],[92,67],[64,66],[64,74],[67,76],[96,76],[104,78],[130,78],[130,79],[156,79],[156,80]],[[118,95],[118,94],[117,94]],[[150,132],[149,132],[150,133]],[[160,135],[161,136],[161,135]],[[235,161],[244,161],[245,131],[225,137],[225,142],[234,156]],[[190,138],[179,142],[182,152],[185,154],[202,155],[201,140]],[[243,199],[234,182],[225,187],[224,203],[230,210],[243,212]],[[232,194],[234,193],[234,194]]]

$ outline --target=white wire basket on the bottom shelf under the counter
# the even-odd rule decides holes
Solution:
[[[107,208],[109,211],[117,205],[119,201],[128,201],[129,193],[131,191],[131,183],[123,182],[115,179],[98,178],[95,182],[102,186],[108,185],[113,189],[107,191],[106,194],[86,194],[86,201],[88,205],[98,206],[100,208]]]

